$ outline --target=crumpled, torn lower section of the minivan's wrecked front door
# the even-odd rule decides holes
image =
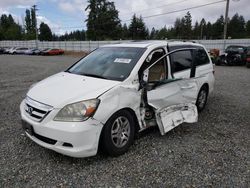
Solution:
[[[179,104],[156,110],[156,121],[161,135],[182,123],[198,121],[198,111],[194,104]]]

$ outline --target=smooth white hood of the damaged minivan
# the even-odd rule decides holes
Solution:
[[[54,108],[62,108],[70,103],[97,98],[119,83],[62,72],[35,84],[27,96]]]

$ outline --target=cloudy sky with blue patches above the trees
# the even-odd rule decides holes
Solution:
[[[220,0],[114,0],[122,24],[129,24],[128,20],[134,13],[147,17],[218,1]],[[88,12],[85,12],[87,0],[0,0],[0,14],[10,13],[20,24],[23,24],[25,9],[33,4],[38,5],[38,22],[47,23],[56,34],[76,29],[86,30],[84,20],[88,15]],[[189,11],[193,22],[200,21],[202,18],[213,22],[220,15],[225,14],[225,7],[226,1]],[[250,0],[230,0],[230,17],[239,13],[246,20],[250,20],[249,10]],[[169,27],[174,24],[177,17],[183,17],[187,11],[145,18],[144,21],[150,29],[161,28],[165,25]]]

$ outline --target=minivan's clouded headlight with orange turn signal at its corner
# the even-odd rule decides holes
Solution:
[[[99,99],[91,99],[68,104],[58,112],[54,120],[72,122],[85,121],[95,113],[99,102]]]

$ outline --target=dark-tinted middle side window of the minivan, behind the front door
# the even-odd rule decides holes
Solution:
[[[190,50],[175,52],[170,55],[172,73],[191,68],[192,52]]]

